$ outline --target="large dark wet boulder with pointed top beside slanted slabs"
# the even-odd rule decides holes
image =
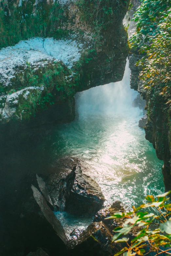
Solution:
[[[45,183],[54,207],[60,211],[95,214],[105,201],[99,185],[83,174],[80,166],[63,178],[51,174]]]

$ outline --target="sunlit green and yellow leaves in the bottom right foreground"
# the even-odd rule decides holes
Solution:
[[[155,256],[161,253],[165,253],[165,255],[171,254],[171,248],[168,249],[171,246],[171,218],[169,218],[171,204],[166,204],[168,200],[166,196],[170,193],[171,191],[158,195],[157,199],[152,195],[148,195],[145,199],[149,202],[137,208],[132,207],[132,212],[116,212],[111,217],[106,218],[125,218],[123,226],[116,227],[113,230],[116,233],[113,236],[112,242],[124,242],[127,243],[127,247],[124,247],[114,256],[121,254],[123,256],[143,256],[150,252],[156,252]],[[141,211],[148,207],[155,207],[159,214],[156,215],[147,211]],[[136,233],[134,239],[129,241],[129,238],[122,237],[123,235],[127,235],[135,226],[139,227],[139,232]]]

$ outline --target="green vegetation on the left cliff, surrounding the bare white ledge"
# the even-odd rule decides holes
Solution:
[[[82,45],[81,57],[72,68],[62,62],[55,64],[51,61],[48,64],[46,62],[44,67],[36,67],[35,63],[28,64],[26,69],[21,65],[16,66],[10,85],[6,86],[2,81],[0,84],[2,120],[5,118],[9,121],[7,112],[11,106],[13,110],[16,108],[17,119],[29,119],[29,115],[53,103],[70,101],[77,91],[100,85],[102,80],[105,83],[121,80],[124,72],[122,61],[125,64],[128,54],[127,33],[121,22],[128,4],[128,0],[77,0],[63,3],[60,0],[30,0],[21,1],[20,4],[17,1],[0,1],[0,48],[33,37],[70,39]],[[113,24],[118,26],[115,28]],[[123,72],[120,72],[119,67],[122,67]],[[24,97],[25,91],[22,91],[17,96],[18,105],[6,104],[7,95],[27,87],[38,88],[38,91],[29,89],[27,98]],[[7,108],[4,110],[5,106]]]

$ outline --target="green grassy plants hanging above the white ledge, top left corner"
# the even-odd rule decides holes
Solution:
[[[58,2],[47,4],[46,1],[39,1],[36,7],[34,2],[22,1],[22,7],[18,8],[10,3],[9,7],[1,4],[0,48],[35,36],[61,38],[68,34],[67,30],[61,29],[67,17]]]

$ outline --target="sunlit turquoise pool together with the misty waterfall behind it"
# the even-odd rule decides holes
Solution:
[[[128,63],[121,82],[76,95],[76,120],[51,134],[51,155],[79,157],[92,166],[88,175],[100,185],[105,204],[120,200],[130,208],[145,202],[147,194],[164,192],[163,162],[157,159],[145,131],[143,116],[132,107],[138,92],[130,89]]]

